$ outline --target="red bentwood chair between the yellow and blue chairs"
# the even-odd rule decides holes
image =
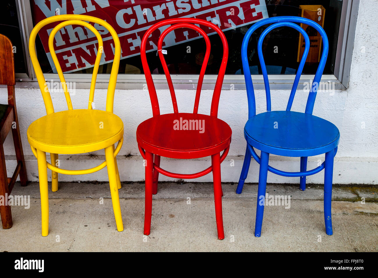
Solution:
[[[167,78],[174,113],[160,115],[158,98],[155,85],[153,84],[151,71],[147,64],[146,43],[150,34],[161,26],[171,25],[164,30],[158,40],[158,53]],[[194,25],[203,25],[208,33],[218,33],[223,43],[222,64],[219,69],[217,82],[211,102],[210,115],[198,114],[198,103],[210,56],[210,40],[205,31]],[[191,28],[200,33],[206,42],[206,53],[201,66],[200,76],[197,84],[197,92],[194,102],[193,113],[179,113],[175,91],[170,78],[168,67],[162,53],[164,37],[177,28]],[[212,30],[211,30],[211,29]],[[146,206],[144,216],[144,235],[150,234],[152,194],[157,193],[159,173],[175,179],[194,179],[213,172],[215,217],[217,220],[218,239],[225,238],[223,232],[222,218],[222,185],[220,175],[220,163],[225,159],[231,143],[231,128],[224,121],[217,118],[220,90],[225,76],[228,58],[228,44],[223,32],[211,22],[201,19],[180,18],[168,19],[152,25],[144,34],[141,43],[141,59],[146,76],[147,86],[150,94],[153,117],[139,124],[136,130],[136,140],[141,155],[146,160]],[[185,121],[187,120],[187,122]],[[202,130],[201,130],[202,128]],[[220,152],[223,151],[222,156]],[[160,157],[170,158],[199,158],[211,156],[211,166],[195,174],[177,174],[160,168]]]

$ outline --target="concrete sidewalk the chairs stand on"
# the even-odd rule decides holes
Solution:
[[[49,192],[47,237],[41,236],[38,183],[26,188],[16,184],[12,195],[29,195],[31,204],[29,209],[12,207],[13,227],[0,229],[0,252],[378,251],[377,188],[335,185],[333,236],[327,236],[322,185],[300,191],[299,185],[270,184],[268,194],[291,196],[290,209],[266,206],[262,236],[255,238],[257,185],[245,184],[240,195],[235,194],[236,183],[222,186],[225,239],[220,241],[212,183],[159,183],[147,237],[143,236],[144,183],[122,183],[122,232],[116,230],[107,183],[59,183],[59,191]]]

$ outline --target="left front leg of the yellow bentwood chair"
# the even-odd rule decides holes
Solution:
[[[37,149],[39,190],[41,194],[42,236],[48,235],[48,183],[46,153]]]

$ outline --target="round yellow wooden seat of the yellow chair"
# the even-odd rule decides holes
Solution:
[[[117,115],[91,109],[66,110],[43,116],[28,128],[31,146],[55,154],[81,154],[104,149],[123,137]]]

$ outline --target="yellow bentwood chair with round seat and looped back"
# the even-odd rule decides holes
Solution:
[[[57,69],[60,82],[62,83],[68,110],[54,112],[50,92],[37,59],[35,41],[39,30],[43,26],[58,21],[63,22],[56,25],[56,27],[51,31],[48,47]],[[115,56],[112,71],[110,73],[106,97],[106,111],[92,109],[96,77],[101,54],[103,52],[103,43],[99,32],[88,22],[98,23],[99,25],[104,26],[110,32],[114,40]],[[88,109],[73,110],[70,93],[67,89],[67,83],[64,79],[62,68],[59,65],[54,51],[54,36],[57,31],[67,25],[85,26],[92,31],[98,39],[98,52],[95,66],[93,68]],[[53,192],[55,192],[58,190],[58,173],[68,175],[89,174],[101,170],[107,166],[117,230],[123,231],[121,208],[119,205],[118,196],[118,189],[121,188],[121,181],[119,179],[116,155],[122,146],[124,127],[122,120],[113,114],[114,91],[117,81],[119,58],[121,56],[121,47],[117,33],[107,22],[96,17],[84,15],[52,16],[37,23],[37,25],[33,28],[33,31],[31,31],[29,39],[29,53],[36,72],[37,81],[42,92],[47,113],[46,116],[34,121],[29,126],[27,132],[31,149],[38,161],[42,212],[42,236],[48,235],[47,168],[51,169],[52,171],[51,189]],[[117,148],[115,148],[114,144],[117,142],[118,145]],[[100,149],[105,149],[106,160],[94,168],[84,170],[67,170],[58,167],[58,154],[81,154]],[[50,153],[51,163],[46,161],[46,152]]]

